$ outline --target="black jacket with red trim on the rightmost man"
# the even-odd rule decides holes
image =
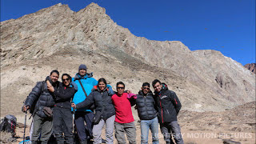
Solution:
[[[177,115],[182,108],[182,104],[174,91],[168,90],[167,87],[162,87],[159,93],[155,92],[154,99],[158,106],[159,122],[177,121]]]

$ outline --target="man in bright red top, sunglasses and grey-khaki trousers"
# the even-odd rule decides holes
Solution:
[[[112,102],[115,108],[114,132],[118,144],[126,143],[125,134],[130,144],[136,143],[136,129],[134,125],[134,117],[131,111],[130,102],[136,99],[135,94],[124,93],[125,84],[117,83],[118,92],[112,96]]]

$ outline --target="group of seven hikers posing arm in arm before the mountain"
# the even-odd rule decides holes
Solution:
[[[102,129],[106,126],[106,143],[136,143],[136,128],[131,106],[138,110],[141,126],[141,143],[148,143],[149,130],[152,143],[159,143],[158,123],[166,143],[182,144],[181,129],[177,115],[182,105],[177,95],[168,90],[166,84],[155,79],[144,82],[138,94],[125,90],[125,84],[118,82],[116,92],[106,83],[98,81],[92,73],[87,73],[86,65],[80,65],[78,74],[71,78],[53,70],[45,81],[38,82],[22,106],[22,111],[30,110],[33,116],[31,127],[32,144],[46,144],[54,134],[58,144],[74,143],[73,126],[80,144],[102,143]],[[73,118],[74,114],[74,118]],[[74,120],[74,122],[73,122]],[[86,124],[85,124],[86,122]],[[114,133],[114,134],[113,134]]]

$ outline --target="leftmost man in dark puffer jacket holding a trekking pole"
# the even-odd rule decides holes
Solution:
[[[53,70],[50,72],[50,76],[46,78],[46,81],[49,80],[51,85],[57,88],[59,85],[58,76],[58,70]],[[33,114],[32,144],[37,144],[38,142],[47,144],[53,131],[53,120],[46,114],[46,111],[50,112],[54,107],[55,98],[54,94],[47,90],[46,81],[38,82],[34,86],[23,106],[23,111],[31,110],[30,112]]]

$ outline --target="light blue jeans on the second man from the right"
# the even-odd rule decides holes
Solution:
[[[148,143],[149,129],[152,133],[152,143],[158,144],[158,117],[151,120],[141,120],[142,144]]]

